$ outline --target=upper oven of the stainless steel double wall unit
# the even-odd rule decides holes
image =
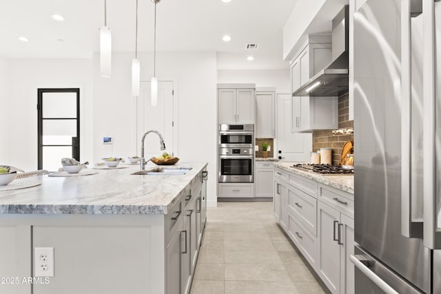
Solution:
[[[219,147],[254,149],[254,125],[219,125]]]

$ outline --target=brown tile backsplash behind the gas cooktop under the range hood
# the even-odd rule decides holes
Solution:
[[[349,95],[344,94],[338,97],[338,128],[353,127],[353,120],[349,120]],[[353,140],[353,134],[333,135],[332,130],[317,131],[312,134],[312,149],[318,151],[320,148],[332,148],[332,163],[340,164],[342,147],[346,141]]]

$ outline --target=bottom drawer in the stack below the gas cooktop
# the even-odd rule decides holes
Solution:
[[[309,264],[316,269],[317,258],[317,238],[303,229],[298,224],[296,217],[288,213],[288,228],[289,237],[296,244],[297,248],[302,252]]]

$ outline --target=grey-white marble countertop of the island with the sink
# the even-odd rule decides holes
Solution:
[[[180,162],[174,167],[192,170],[175,176],[133,176],[139,165],[125,166],[92,176],[41,176],[40,186],[0,191],[0,214],[167,214],[207,163]]]

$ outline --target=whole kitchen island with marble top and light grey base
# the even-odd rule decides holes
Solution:
[[[121,165],[124,166],[124,165]],[[0,191],[0,293],[186,293],[205,227],[207,164],[184,175],[138,165]],[[154,167],[149,165],[146,169]],[[37,247],[54,276],[34,283]],[[18,283],[10,282],[18,277]]]

